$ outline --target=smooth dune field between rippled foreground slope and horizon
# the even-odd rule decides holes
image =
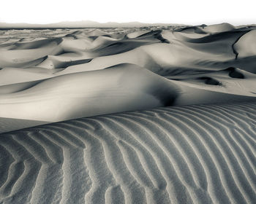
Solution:
[[[159,106],[254,101],[254,36],[254,27],[227,23],[5,31],[0,117],[57,122]]]

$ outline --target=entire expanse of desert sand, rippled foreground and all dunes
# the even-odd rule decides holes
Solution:
[[[255,203],[255,31],[1,31],[0,203]]]

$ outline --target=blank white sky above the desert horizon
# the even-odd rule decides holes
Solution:
[[[256,23],[256,3],[248,0],[1,0],[0,5],[0,22],[5,23]]]

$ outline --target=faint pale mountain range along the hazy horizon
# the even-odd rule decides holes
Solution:
[[[91,20],[64,21],[50,24],[29,24],[29,23],[0,23],[0,28],[110,28],[110,27],[143,27],[143,26],[178,26],[173,23],[98,23]]]

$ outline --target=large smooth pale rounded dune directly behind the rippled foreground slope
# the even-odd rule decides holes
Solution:
[[[1,117],[57,122],[167,106],[178,95],[178,86],[132,64],[56,76],[19,87],[23,89],[0,95]]]

